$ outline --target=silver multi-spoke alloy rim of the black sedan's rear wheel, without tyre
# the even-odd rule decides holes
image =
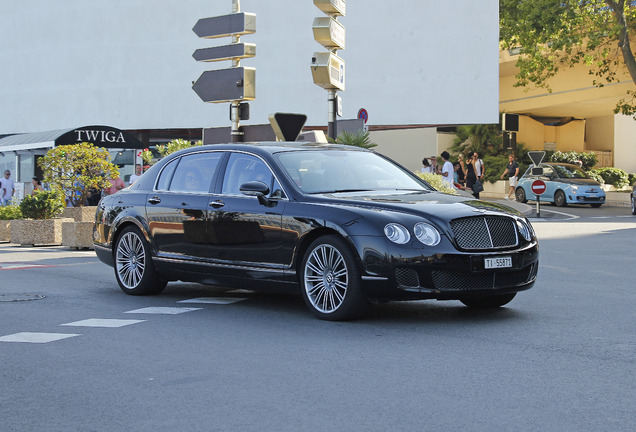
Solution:
[[[125,233],[117,242],[115,268],[124,287],[135,289],[141,283],[146,269],[146,252],[134,232]]]

